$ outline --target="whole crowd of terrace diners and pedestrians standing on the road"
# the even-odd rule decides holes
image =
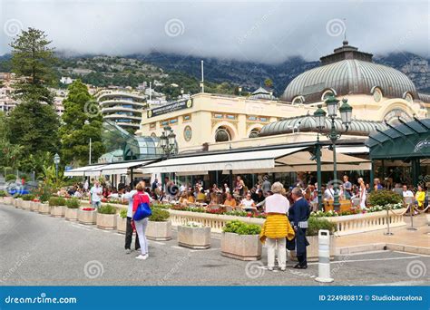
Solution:
[[[416,189],[406,184],[395,184],[394,187],[387,188],[380,179],[374,179],[373,186],[370,187],[362,178],[358,178],[357,184],[353,184],[345,175],[342,182],[328,182],[321,191],[324,201],[333,200],[337,190],[339,199],[350,200],[351,205],[366,208],[368,194],[382,189],[389,189],[404,198],[414,199],[418,208],[425,208],[428,205],[429,195],[423,185],[418,185]],[[61,189],[58,195],[88,198],[93,208],[99,208],[103,199],[127,203],[125,253],[132,252],[132,235],[133,231],[136,231],[134,249],[140,251],[140,255],[136,257],[138,259],[149,257],[148,242],[145,237],[148,218],[133,220],[133,214],[142,202],[148,204],[154,201],[169,202],[181,206],[199,205],[208,208],[223,206],[232,210],[265,212],[266,222],[260,239],[261,242],[266,242],[268,247],[268,268],[273,270],[275,252],[278,252],[279,268],[285,270],[286,248],[296,250],[298,256],[296,268],[308,266],[306,230],[312,206],[318,205],[318,184],[308,184],[305,187],[301,182],[297,182],[294,186],[285,189],[280,182],[271,184],[269,179],[261,179],[249,189],[245,181],[237,176],[230,189],[227,183],[222,186],[213,184],[205,187],[201,179],[198,179],[193,186],[187,183],[177,185],[169,177],[165,177],[163,183],[158,179],[154,179],[151,184],[141,180],[135,181],[132,187],[119,184],[118,188],[112,188],[107,183],[101,184],[99,179],[92,179],[91,186],[86,180],[69,189]]]

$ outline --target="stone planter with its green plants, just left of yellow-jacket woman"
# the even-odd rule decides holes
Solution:
[[[246,224],[231,220],[222,229],[221,255],[241,260],[258,260],[261,258],[261,242],[257,224]]]

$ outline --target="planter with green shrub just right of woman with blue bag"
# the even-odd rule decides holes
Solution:
[[[146,228],[146,237],[155,241],[171,240],[171,214],[161,208],[152,208],[152,215]]]

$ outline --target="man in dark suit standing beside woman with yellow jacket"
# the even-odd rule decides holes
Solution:
[[[298,256],[298,264],[294,267],[306,269],[308,268],[306,247],[309,245],[306,230],[308,228],[310,208],[308,201],[303,198],[301,189],[292,189],[291,197],[294,199],[294,204],[288,210],[288,219],[296,232],[296,253]]]

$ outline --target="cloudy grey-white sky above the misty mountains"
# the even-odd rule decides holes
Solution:
[[[27,27],[65,53],[315,61],[340,46],[429,57],[427,1],[0,0],[0,54]]]

